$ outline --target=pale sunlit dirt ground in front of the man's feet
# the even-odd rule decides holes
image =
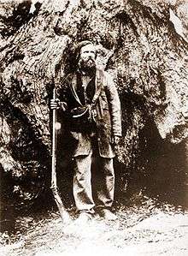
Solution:
[[[14,235],[1,234],[1,256],[67,255],[188,255],[188,211],[172,205],[157,207],[151,199],[142,205],[119,206],[118,219],[95,217],[78,226],[62,223],[58,212],[18,217]]]

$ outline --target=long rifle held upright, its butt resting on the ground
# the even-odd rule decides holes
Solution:
[[[53,99],[56,99],[56,88],[53,89]],[[52,158],[51,158],[51,190],[56,201],[56,205],[62,217],[62,221],[68,223],[70,217],[68,211],[62,203],[56,185],[56,109],[52,110]]]

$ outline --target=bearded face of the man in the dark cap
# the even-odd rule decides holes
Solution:
[[[85,45],[81,48],[79,68],[85,73],[92,73],[96,68],[96,50],[94,45]]]

